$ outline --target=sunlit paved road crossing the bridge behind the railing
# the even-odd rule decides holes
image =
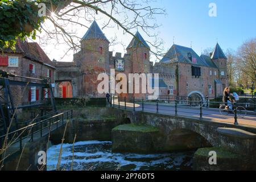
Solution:
[[[115,107],[118,107],[118,102],[115,101]],[[123,108],[125,102],[120,102],[120,106]],[[127,109],[133,109],[133,103],[126,103]],[[135,104],[136,111],[142,111],[141,104]],[[156,105],[144,104],[144,111],[156,113]],[[159,104],[160,114],[175,115],[175,107],[172,105],[161,105]],[[189,106],[178,106],[177,114],[181,116],[200,118],[200,109]],[[210,119],[212,121],[234,123],[234,114],[222,115],[218,109],[206,109],[203,108],[203,119]],[[238,123],[240,125],[254,126],[256,127],[256,115],[246,114],[246,117],[238,117]]]

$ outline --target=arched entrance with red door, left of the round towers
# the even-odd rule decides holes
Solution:
[[[72,98],[72,83],[70,81],[59,82],[56,96],[58,98]]]

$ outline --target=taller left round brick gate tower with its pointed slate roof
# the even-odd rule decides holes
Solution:
[[[94,20],[81,39],[79,65],[82,72],[82,95],[91,94],[99,97],[97,92],[97,76],[110,73],[109,40]],[[102,95],[103,96],[103,95]]]

